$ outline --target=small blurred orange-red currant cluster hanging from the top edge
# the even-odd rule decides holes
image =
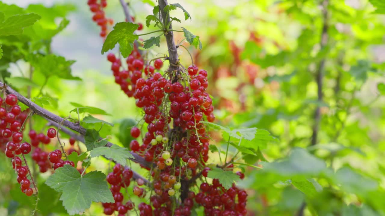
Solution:
[[[113,25],[114,20],[107,19],[104,14],[104,8],[107,7],[107,0],[88,0],[87,4],[90,11],[94,13],[92,20],[100,26],[100,37],[104,38],[107,35],[107,25]]]

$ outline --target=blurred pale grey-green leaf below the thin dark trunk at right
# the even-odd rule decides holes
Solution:
[[[315,176],[326,169],[325,161],[316,158],[303,148],[295,148],[288,158],[283,160],[262,163],[264,171],[287,177],[297,175]]]

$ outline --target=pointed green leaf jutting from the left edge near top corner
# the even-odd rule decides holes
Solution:
[[[3,14],[3,13],[2,13]],[[4,19],[4,14],[1,15]],[[41,17],[35,13],[18,14],[8,17],[6,20],[0,19],[0,36],[20,35],[24,32],[23,28],[33,25]]]

